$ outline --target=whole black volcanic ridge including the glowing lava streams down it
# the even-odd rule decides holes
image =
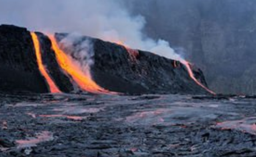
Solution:
[[[81,36],[0,25],[0,91],[6,93],[214,94],[191,64]],[[89,42],[91,46],[82,47]],[[79,52],[90,51],[85,56]]]

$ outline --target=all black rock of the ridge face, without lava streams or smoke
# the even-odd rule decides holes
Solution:
[[[42,61],[49,75],[62,92],[74,91],[73,82],[56,61],[48,37],[42,33],[36,34],[40,41]],[[67,34],[55,36],[57,41],[61,41]],[[91,65],[93,80],[109,91],[128,94],[207,93],[189,77],[187,69],[179,62],[174,67],[174,60],[150,52],[138,50],[136,56],[131,56],[121,45],[90,37],[79,40],[83,42],[88,39],[94,49],[94,64]],[[0,91],[49,92],[47,82],[38,70],[29,31],[14,26],[0,26],[0,47]],[[193,70],[195,77],[206,85],[202,72],[196,68]]]

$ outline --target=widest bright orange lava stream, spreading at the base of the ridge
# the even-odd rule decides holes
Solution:
[[[90,93],[98,94],[118,94],[116,92],[111,92],[106,89],[103,89],[93,79],[91,78],[90,71],[87,69],[87,72],[83,72],[81,68],[75,64],[75,61],[68,56],[63,50],[60,49],[58,43],[53,35],[48,35],[49,39],[52,42],[52,48],[56,54],[56,58],[60,67],[69,74],[75,83],[85,91]],[[89,76],[88,76],[89,75]]]

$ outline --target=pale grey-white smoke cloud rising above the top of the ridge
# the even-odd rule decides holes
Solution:
[[[131,16],[124,0],[1,0],[0,23],[43,32],[76,32],[180,60],[167,41],[142,33],[145,18]]]

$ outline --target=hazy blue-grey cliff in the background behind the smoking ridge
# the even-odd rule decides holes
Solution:
[[[185,56],[204,71],[220,93],[256,93],[256,1],[129,1],[145,16],[145,31],[185,48]]]

